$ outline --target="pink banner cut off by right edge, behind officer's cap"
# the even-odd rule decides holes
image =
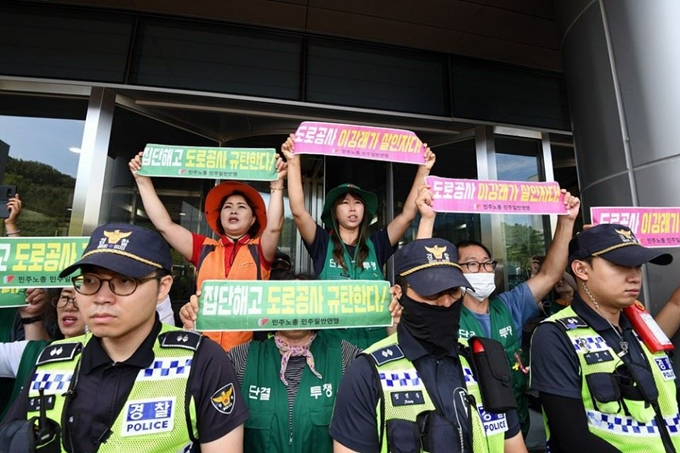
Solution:
[[[592,207],[594,225],[618,223],[645,247],[680,247],[680,208]]]

